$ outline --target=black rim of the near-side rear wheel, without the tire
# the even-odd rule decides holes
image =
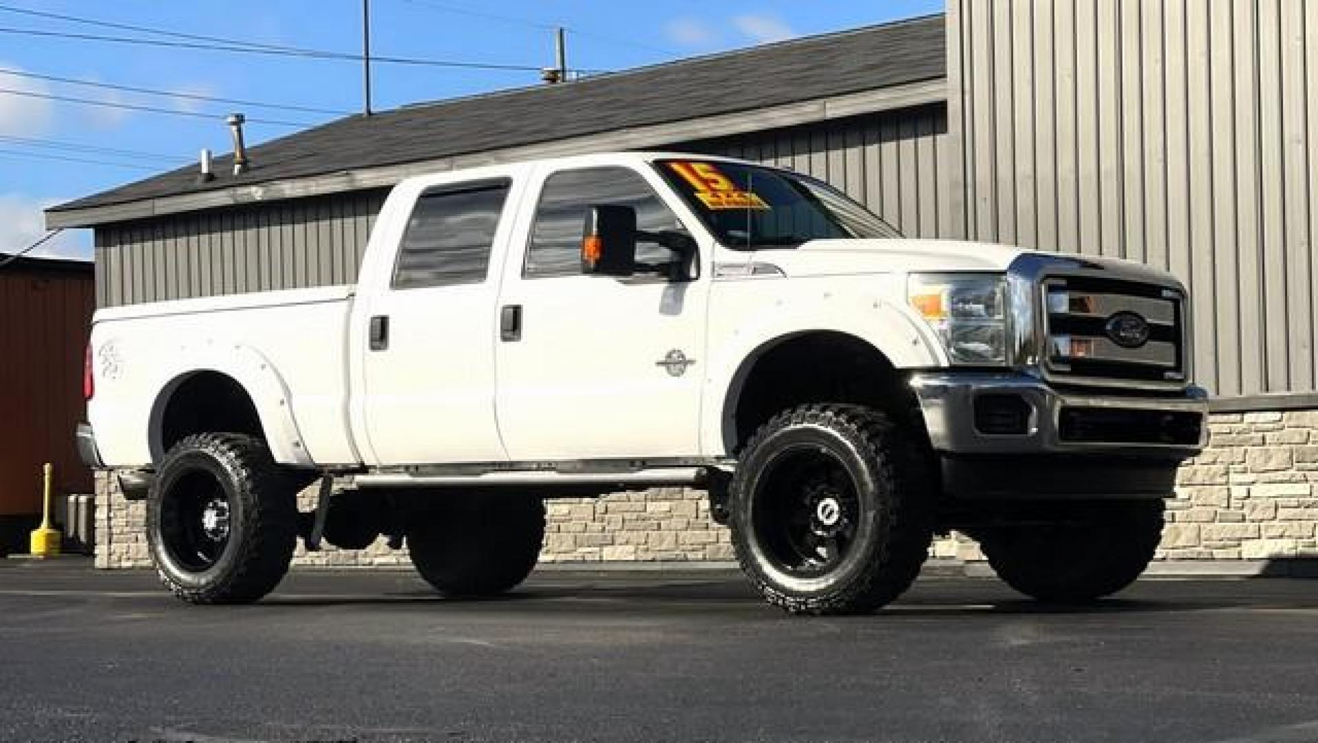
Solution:
[[[206,472],[178,478],[161,501],[161,543],[174,563],[200,573],[224,555],[232,534],[233,503]]]

